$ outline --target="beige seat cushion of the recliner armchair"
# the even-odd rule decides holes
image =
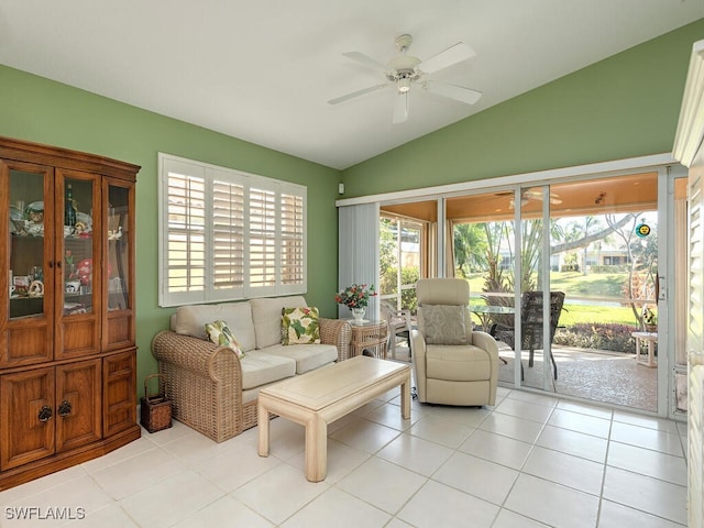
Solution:
[[[492,376],[492,362],[486,351],[472,344],[429,344],[426,352],[426,374],[428,378],[452,382],[488,380]]]

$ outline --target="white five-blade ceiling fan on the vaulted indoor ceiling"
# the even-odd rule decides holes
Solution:
[[[343,53],[342,55],[345,57],[381,72],[384,77],[386,77],[386,82],[363,88],[336,99],[330,99],[328,103],[338,105],[355,97],[381,90],[387,86],[394,86],[396,88],[394,123],[403,123],[408,119],[408,95],[413,85],[418,85],[421,89],[431,94],[448,97],[468,105],[474,105],[480,97],[482,97],[481,91],[426,78],[428,75],[435,74],[440,69],[472,58],[475,55],[474,50],[463,42],[459,42],[427,61],[420,61],[418,57],[414,57],[407,53],[413,42],[414,40],[410,35],[404,34],[398,36],[396,38],[396,47],[400,54],[392,58],[386,65],[360,52]]]

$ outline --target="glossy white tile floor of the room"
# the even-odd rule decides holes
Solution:
[[[175,421],[0,493],[0,526],[686,525],[684,424],[505,388],[491,409],[414,402],[403,420],[395,391],[329,435],[328,477],[312,484],[298,425],[273,420],[260,458],[256,428],[218,444]]]

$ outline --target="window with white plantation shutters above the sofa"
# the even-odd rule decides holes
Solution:
[[[306,187],[158,162],[160,306],[306,293]]]

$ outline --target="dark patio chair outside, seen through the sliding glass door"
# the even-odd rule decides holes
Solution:
[[[550,342],[554,339],[558,329],[562,305],[564,304],[563,292],[550,292]],[[525,292],[520,298],[520,334],[522,338],[521,350],[528,350],[528,366],[532,367],[536,349],[542,348],[542,292]],[[492,329],[492,334],[497,341],[503,341],[512,349],[515,345],[516,332],[513,327],[497,324]],[[558,378],[558,365],[554,362],[552,350],[550,350],[550,361],[552,362],[553,376]],[[522,361],[520,372],[522,378]]]

